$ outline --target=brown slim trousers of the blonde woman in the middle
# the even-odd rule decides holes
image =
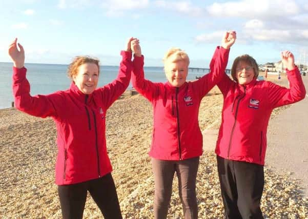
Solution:
[[[178,178],[179,196],[183,206],[185,219],[198,218],[196,198],[196,177],[199,157],[182,161],[163,161],[152,158],[154,173],[154,217],[165,219],[172,193],[173,176]]]

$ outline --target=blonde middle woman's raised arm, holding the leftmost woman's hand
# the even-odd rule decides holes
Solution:
[[[155,83],[145,79],[145,72],[143,71],[144,56],[141,54],[141,47],[139,40],[135,39],[131,43],[131,48],[134,53],[132,84],[133,87],[149,101],[152,101],[157,94],[158,87]]]

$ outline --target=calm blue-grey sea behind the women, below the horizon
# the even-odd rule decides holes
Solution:
[[[0,63],[0,109],[10,108],[13,102],[12,63]],[[25,64],[31,95],[50,94],[67,90],[71,80],[67,76],[68,65]],[[100,66],[98,87],[112,82],[118,74],[118,66]],[[145,77],[152,82],[166,82],[163,67],[144,67]],[[193,81],[207,72],[189,70],[187,81]],[[130,84],[128,89],[132,89]]]

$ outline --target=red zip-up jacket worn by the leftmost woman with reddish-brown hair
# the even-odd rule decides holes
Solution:
[[[117,78],[91,94],[81,93],[72,83],[66,91],[31,96],[27,69],[13,68],[16,108],[55,121],[57,185],[89,181],[112,171],[106,148],[106,111],[128,87],[132,70],[131,53],[122,51],[121,55]]]

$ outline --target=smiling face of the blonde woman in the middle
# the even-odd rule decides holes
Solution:
[[[188,64],[183,60],[168,62],[165,66],[165,73],[169,83],[173,87],[180,87],[186,82]]]

